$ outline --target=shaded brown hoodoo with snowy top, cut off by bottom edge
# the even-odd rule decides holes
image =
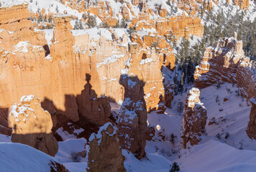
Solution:
[[[116,130],[111,123],[102,126],[97,135],[95,133],[91,135],[86,149],[88,150],[87,171],[126,171]]]

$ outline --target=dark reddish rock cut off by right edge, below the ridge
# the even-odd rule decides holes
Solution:
[[[252,98],[251,102],[252,108],[250,112],[250,121],[248,123],[246,133],[249,138],[254,138],[256,140],[256,100]]]

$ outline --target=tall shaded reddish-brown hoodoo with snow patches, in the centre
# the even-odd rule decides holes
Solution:
[[[128,75],[122,75],[119,83],[124,87],[124,102],[117,120],[119,142],[122,148],[142,158],[145,156],[147,130],[145,83],[137,76]]]

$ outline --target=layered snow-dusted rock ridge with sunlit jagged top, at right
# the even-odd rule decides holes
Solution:
[[[244,56],[242,41],[236,36],[219,39],[216,47],[204,52],[201,64],[194,73],[194,86],[208,87],[218,82],[236,83],[242,88],[242,95],[250,100],[256,97],[255,63]]]

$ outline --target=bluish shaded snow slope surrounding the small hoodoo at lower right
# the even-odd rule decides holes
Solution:
[[[224,102],[224,97],[227,99]],[[166,135],[165,141],[147,142],[147,151],[165,156],[177,162],[182,171],[255,171],[256,140],[246,133],[250,106],[239,95],[236,85],[224,83],[219,89],[214,85],[201,90],[200,100],[207,108],[206,133],[199,145],[183,149],[180,142],[180,123],[182,116],[177,112],[178,102],[185,95],[175,96],[173,109],[165,114],[150,113],[150,125],[160,125]],[[216,123],[209,125],[209,121]],[[177,135],[174,144],[170,133]],[[219,134],[218,134],[219,133]]]

